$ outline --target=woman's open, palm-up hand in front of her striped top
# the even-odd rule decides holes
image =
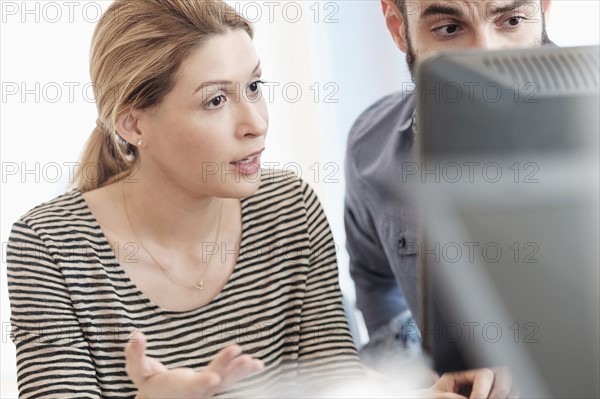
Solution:
[[[169,370],[146,356],[143,333],[138,332],[136,338],[125,347],[125,370],[138,389],[137,398],[207,398],[264,368],[260,360],[231,345],[201,372],[183,367]]]

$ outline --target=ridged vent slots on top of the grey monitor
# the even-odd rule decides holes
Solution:
[[[515,83],[535,83],[540,90],[599,89],[600,60],[597,52],[524,53],[490,56],[486,68]]]

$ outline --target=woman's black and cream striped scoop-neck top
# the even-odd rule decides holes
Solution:
[[[302,394],[306,382],[360,374],[335,251],[311,188],[263,171],[242,200],[240,254],[223,291],[198,309],[167,311],[128,278],[81,192],[61,195],[19,219],[7,247],[20,396],[133,397],[123,349],[138,330],[169,368],[202,369],[232,343],[261,359],[264,371],[228,396],[276,384]]]

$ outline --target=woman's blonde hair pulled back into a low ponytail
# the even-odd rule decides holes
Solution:
[[[92,38],[98,119],[73,186],[86,192],[129,175],[138,152],[117,134],[117,118],[159,105],[191,50],[232,29],[253,36],[250,23],[220,0],[115,0]]]

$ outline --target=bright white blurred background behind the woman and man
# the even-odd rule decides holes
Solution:
[[[89,78],[95,23],[111,1],[0,1],[1,398],[17,397],[10,340],[6,242],[11,225],[65,192],[96,120]],[[378,0],[228,1],[256,27],[269,82],[263,160],[317,191],[338,248],[340,281],[354,291],[344,247],[344,153],[358,115],[410,82]],[[560,46],[600,43],[600,1],[553,0],[548,32]],[[368,337],[355,312],[357,342]]]

